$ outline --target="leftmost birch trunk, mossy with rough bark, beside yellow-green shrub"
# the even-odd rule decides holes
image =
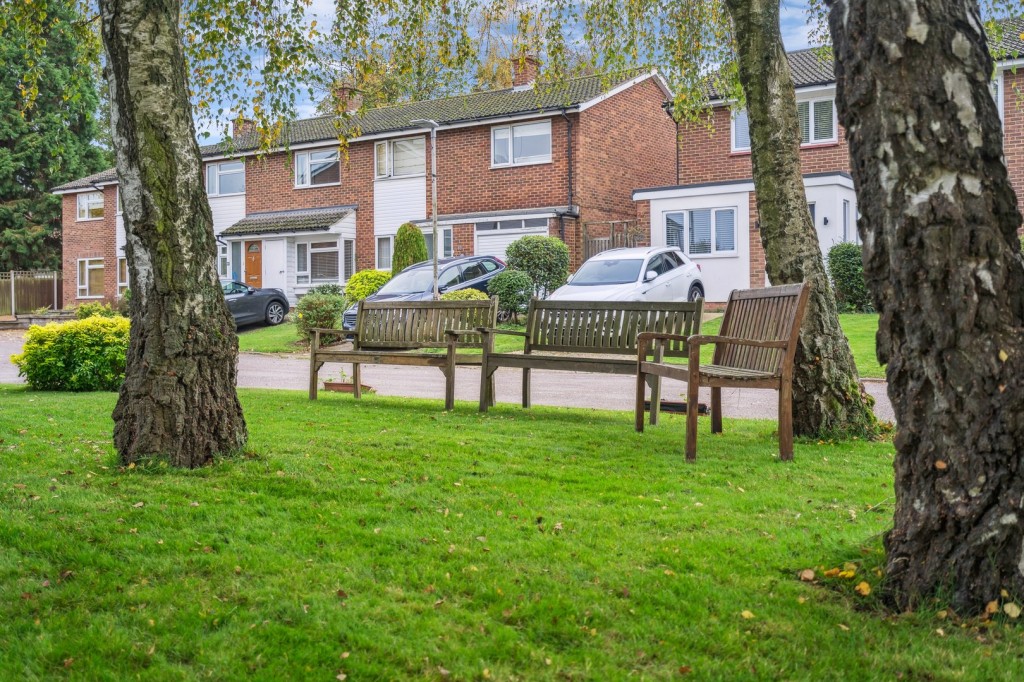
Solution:
[[[196,467],[241,449],[238,339],[185,86],[178,0],[100,0],[131,281],[128,367],[114,410],[121,460]],[[114,267],[110,263],[109,267]]]

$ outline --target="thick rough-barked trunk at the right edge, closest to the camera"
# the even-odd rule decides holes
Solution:
[[[896,437],[889,597],[1024,596],[1024,264],[977,4],[831,6]]]

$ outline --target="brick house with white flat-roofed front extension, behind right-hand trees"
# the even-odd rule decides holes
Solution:
[[[1005,28],[1009,54],[1024,54],[1024,19]],[[797,89],[801,125],[800,157],[811,218],[822,255],[840,242],[857,241],[857,196],[850,175],[850,155],[837,121],[833,63],[816,50],[787,54]],[[996,62],[992,95],[1004,126],[1004,150],[1010,178],[1024,197],[1024,110],[1016,92],[1024,87],[1024,59]],[[654,246],[676,245],[698,262],[709,302],[725,301],[733,289],[767,284],[758,226],[757,198],[751,168],[745,111],[733,111],[711,94],[711,129],[679,127],[678,179],[633,193],[638,225]]]

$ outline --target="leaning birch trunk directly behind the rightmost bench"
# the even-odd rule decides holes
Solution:
[[[821,260],[800,167],[800,126],[779,32],[779,0],[726,0],[746,97],[751,160],[765,265],[773,285],[811,286],[793,379],[793,428],[802,435],[871,435],[878,422]]]

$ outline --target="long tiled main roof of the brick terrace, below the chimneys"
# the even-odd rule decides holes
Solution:
[[[376,135],[420,129],[423,127],[422,124],[412,123],[417,119],[432,119],[441,125],[452,125],[522,114],[556,112],[578,106],[645,73],[649,73],[649,71],[634,69],[614,75],[602,74],[573,78],[563,85],[557,86],[549,87],[539,84],[526,89],[506,88],[393,106],[381,106],[369,110],[362,116],[347,121],[336,116],[298,119],[285,124],[283,143],[291,146],[307,142],[335,140],[338,139],[339,131],[343,128],[349,135]],[[203,145],[200,147],[200,152],[204,157],[252,152],[258,146],[258,141],[256,135],[240,135],[230,142]],[[110,181],[117,181],[117,173],[113,168],[89,177],[66,182],[54,187],[51,191],[85,189],[93,182]]]

